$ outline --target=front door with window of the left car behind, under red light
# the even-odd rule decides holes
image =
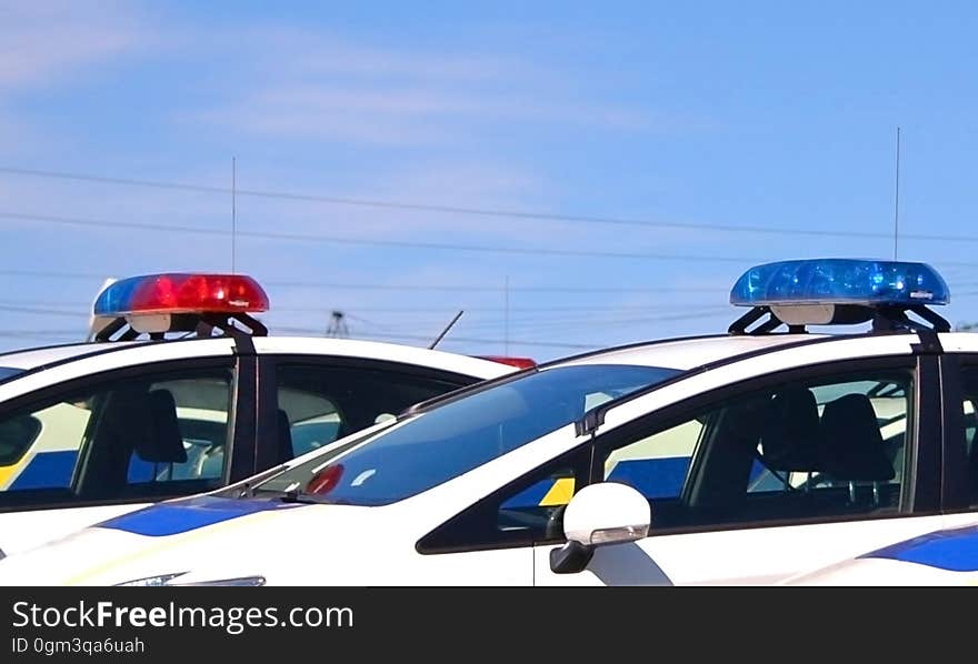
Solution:
[[[241,371],[232,356],[159,362],[3,403],[0,550],[227,484],[241,434],[233,413],[255,410],[236,389]]]

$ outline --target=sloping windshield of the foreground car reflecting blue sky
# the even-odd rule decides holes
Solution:
[[[410,416],[366,442],[317,455],[256,487],[318,502],[386,505],[556,431],[603,402],[660,383],[675,369],[558,366],[478,390]]]

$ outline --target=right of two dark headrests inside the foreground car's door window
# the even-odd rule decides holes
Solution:
[[[846,394],[826,404],[821,415],[824,472],[836,480],[885,482],[896,476],[887,457],[872,403]]]

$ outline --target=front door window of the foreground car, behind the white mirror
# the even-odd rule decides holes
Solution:
[[[909,370],[797,382],[700,409],[599,453],[653,529],[886,514],[899,507]]]

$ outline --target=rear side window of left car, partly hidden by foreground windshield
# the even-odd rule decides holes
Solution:
[[[281,461],[475,382],[370,366],[282,363],[277,369]]]

